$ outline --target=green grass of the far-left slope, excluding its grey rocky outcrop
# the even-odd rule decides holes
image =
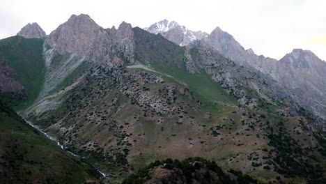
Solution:
[[[15,109],[24,109],[38,97],[45,77],[42,56],[44,41],[13,36],[0,40],[0,57],[6,59],[17,74],[18,81],[27,89],[25,100],[15,102]]]

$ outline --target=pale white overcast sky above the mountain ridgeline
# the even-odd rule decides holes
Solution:
[[[326,60],[324,0],[8,0],[0,6],[0,38],[14,36],[29,22],[49,34],[80,13],[104,28],[123,21],[146,27],[164,19],[208,33],[219,26],[256,54],[281,59],[302,48]]]

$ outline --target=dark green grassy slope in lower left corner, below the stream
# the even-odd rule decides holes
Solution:
[[[95,182],[98,173],[0,104],[0,183]]]

